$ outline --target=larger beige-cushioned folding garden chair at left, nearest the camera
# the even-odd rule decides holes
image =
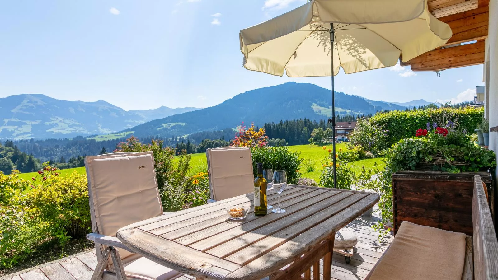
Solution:
[[[91,280],[172,280],[183,274],[133,253],[116,232],[163,214],[152,151],[85,157],[97,268]]]

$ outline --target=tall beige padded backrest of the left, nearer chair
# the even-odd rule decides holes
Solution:
[[[115,237],[124,226],[163,214],[152,151],[86,156],[85,167],[93,232]],[[119,251],[122,259],[139,256]]]

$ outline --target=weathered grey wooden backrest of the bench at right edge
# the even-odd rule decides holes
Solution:
[[[481,176],[474,177],[472,223],[474,279],[498,279],[498,240]]]

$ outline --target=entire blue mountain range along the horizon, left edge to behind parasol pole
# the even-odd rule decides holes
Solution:
[[[412,102],[413,106],[427,103]],[[383,110],[404,110],[412,103],[372,101],[336,92],[336,112],[340,115],[368,115]],[[153,110],[125,111],[106,101],[65,101],[42,94],[21,94],[0,98],[0,139],[47,139],[106,135],[136,137],[185,136],[201,131],[236,128],[245,122],[262,126],[308,118],[331,116],[330,90],[307,83],[254,89],[209,108],[161,106]]]

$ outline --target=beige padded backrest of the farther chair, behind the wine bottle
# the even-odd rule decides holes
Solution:
[[[222,200],[254,191],[249,147],[206,149],[211,199]]]

